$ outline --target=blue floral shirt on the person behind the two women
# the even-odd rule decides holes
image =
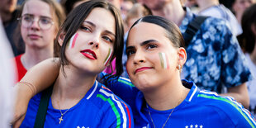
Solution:
[[[196,17],[188,8],[179,26],[184,33]],[[199,88],[221,92],[252,79],[245,57],[226,22],[208,17],[187,46],[187,62],[183,78],[193,81]]]

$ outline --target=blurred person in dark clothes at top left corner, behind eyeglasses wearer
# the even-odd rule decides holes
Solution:
[[[18,13],[17,0],[2,0],[0,4],[0,16],[2,18],[2,24],[7,34],[9,43],[12,46],[12,52],[14,56],[21,55],[25,51],[25,45],[21,38],[21,33],[16,33],[15,30],[18,27]]]

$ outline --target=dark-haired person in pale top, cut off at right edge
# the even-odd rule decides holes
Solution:
[[[249,111],[256,116],[256,4],[248,7],[242,17],[243,33],[238,36],[239,43],[244,50],[245,58],[254,79],[247,82],[249,92]]]

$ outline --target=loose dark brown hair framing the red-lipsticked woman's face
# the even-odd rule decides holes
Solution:
[[[69,64],[68,59],[65,56],[65,48],[69,42],[71,36],[75,34],[76,31],[82,26],[83,21],[88,17],[92,9],[95,7],[105,8],[107,11],[115,17],[116,22],[116,37],[114,42],[114,52],[111,57],[113,60],[116,57],[116,76],[120,76],[122,69],[122,52],[124,47],[124,28],[121,19],[120,12],[111,3],[103,0],[92,0],[88,2],[83,2],[78,7],[75,7],[72,12],[69,13],[67,19],[64,21],[63,25],[59,29],[59,33],[56,39],[59,39],[61,33],[65,33],[63,45],[60,46],[58,40],[55,40],[55,56],[59,56],[62,65]]]

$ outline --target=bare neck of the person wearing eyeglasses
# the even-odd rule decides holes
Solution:
[[[35,50],[26,48],[25,54],[21,56],[21,63],[23,64],[25,69],[28,70],[36,64],[40,63],[41,61],[52,58],[53,56],[53,50]]]

